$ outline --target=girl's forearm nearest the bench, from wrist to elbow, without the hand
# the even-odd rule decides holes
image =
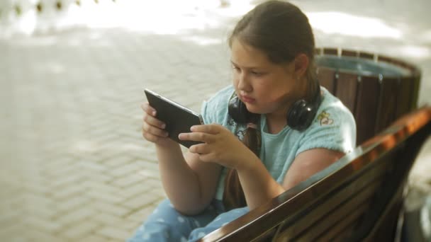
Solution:
[[[246,166],[237,168],[247,206],[251,209],[264,204],[284,192],[284,188],[272,178],[262,161],[254,156]]]

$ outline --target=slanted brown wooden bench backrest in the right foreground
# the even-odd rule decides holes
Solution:
[[[387,238],[396,227],[408,172],[430,133],[431,108],[415,110],[325,170],[201,241]]]

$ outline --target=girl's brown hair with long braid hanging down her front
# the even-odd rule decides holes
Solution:
[[[314,36],[307,16],[298,7],[285,1],[259,4],[237,23],[228,39],[230,47],[235,39],[261,50],[274,64],[289,63],[298,54],[306,54],[309,64],[306,70],[305,99],[308,102],[313,100],[313,94],[318,88],[314,66]],[[247,143],[245,142],[252,148],[253,145]],[[229,209],[247,205],[234,169],[230,169],[226,175],[223,202]]]

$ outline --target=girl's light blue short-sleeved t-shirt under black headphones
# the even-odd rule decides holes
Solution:
[[[267,132],[266,115],[261,115],[262,146],[259,158],[279,184],[283,183],[293,160],[303,151],[325,148],[347,154],[356,146],[356,124],[352,113],[328,90],[323,87],[320,89],[323,94],[322,103],[315,120],[303,132],[286,126],[278,134],[270,134]],[[228,102],[233,92],[232,85],[218,91],[203,103],[201,115],[206,124],[223,125],[242,139],[244,125],[237,125],[228,115]],[[225,175],[224,168],[215,193],[218,200],[223,199]]]

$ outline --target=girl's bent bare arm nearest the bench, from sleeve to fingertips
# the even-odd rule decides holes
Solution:
[[[189,149],[200,161],[236,169],[250,209],[280,195],[344,156],[341,152],[329,149],[303,151],[296,156],[283,184],[279,185],[262,161],[225,127],[196,125],[191,127],[191,131],[180,134],[179,138],[203,142]]]

